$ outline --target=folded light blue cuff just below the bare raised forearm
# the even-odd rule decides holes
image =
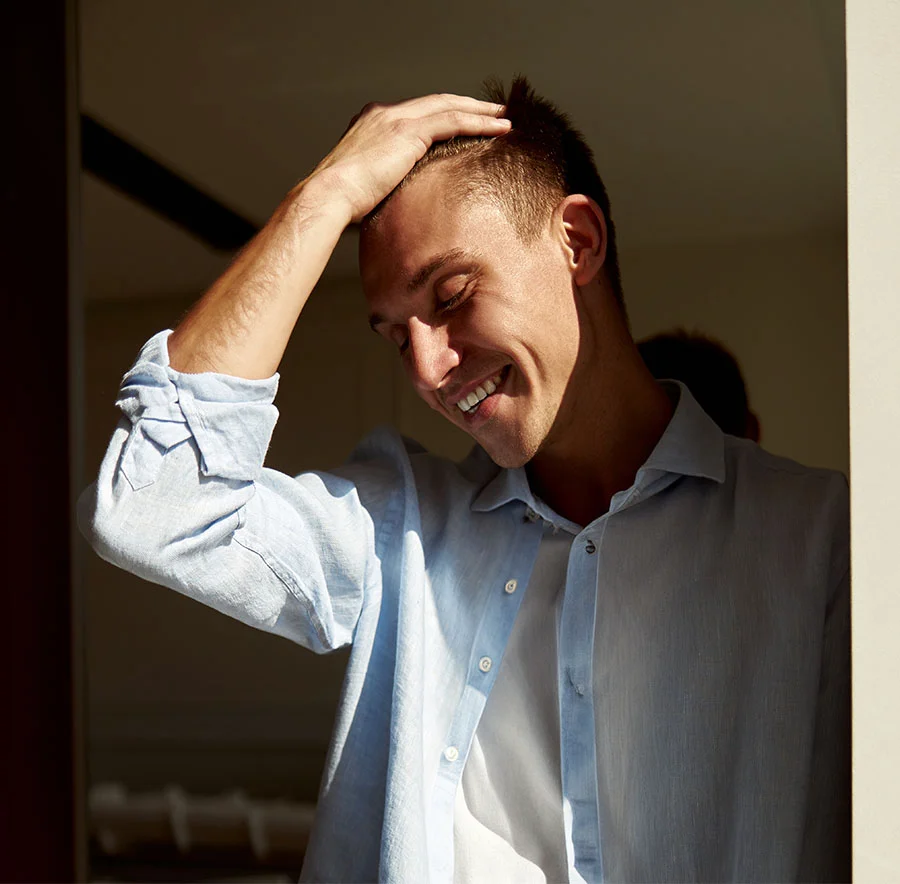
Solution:
[[[169,365],[171,333],[171,329],[160,332],[144,345],[122,379],[116,405],[157,452],[193,437],[204,476],[255,480],[278,420],[272,404],[278,375],[248,380],[175,371]],[[141,446],[129,448],[132,457],[143,460]],[[129,466],[140,471],[139,462]]]

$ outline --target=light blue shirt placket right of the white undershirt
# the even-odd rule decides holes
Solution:
[[[594,619],[605,518],[572,544],[559,619],[559,715],[569,880],[603,880],[594,721]]]

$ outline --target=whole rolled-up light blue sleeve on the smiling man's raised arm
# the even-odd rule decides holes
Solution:
[[[107,561],[251,626],[319,652],[349,643],[377,579],[355,481],[365,467],[266,469],[277,375],[179,373],[169,334],[122,381],[122,420],[79,500],[82,532]]]

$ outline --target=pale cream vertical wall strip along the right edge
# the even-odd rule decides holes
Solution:
[[[853,880],[900,881],[900,3],[847,2]]]

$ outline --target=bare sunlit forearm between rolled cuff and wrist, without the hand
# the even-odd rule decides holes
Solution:
[[[273,375],[350,220],[327,176],[301,182],[169,338],[172,368]]]

